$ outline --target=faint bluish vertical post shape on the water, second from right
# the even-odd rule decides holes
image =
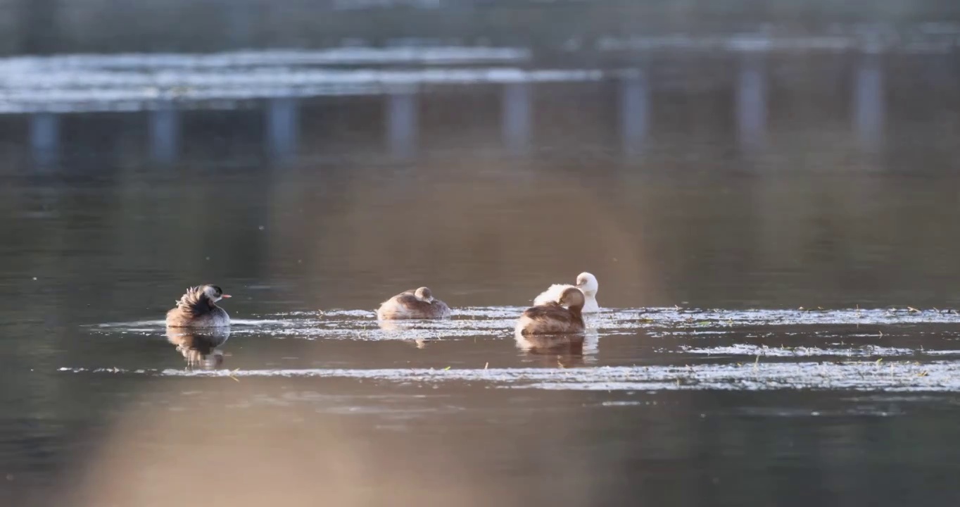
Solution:
[[[764,55],[748,51],[740,58],[736,80],[736,129],[740,145],[759,148],[766,140],[767,76]]]

